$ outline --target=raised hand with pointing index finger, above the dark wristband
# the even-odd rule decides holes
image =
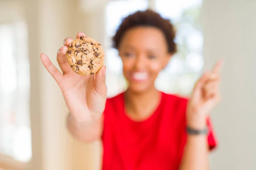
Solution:
[[[193,127],[203,127],[207,114],[221,99],[219,85],[222,65],[223,61],[217,62],[212,71],[205,72],[195,84],[186,112],[188,124]]]

